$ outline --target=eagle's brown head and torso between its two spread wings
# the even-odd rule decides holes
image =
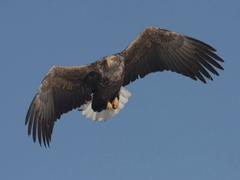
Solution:
[[[83,83],[93,93],[93,111],[101,112],[106,109],[108,102],[119,98],[124,79],[124,61],[119,54],[116,54],[104,57],[90,66],[94,71],[85,76]]]

